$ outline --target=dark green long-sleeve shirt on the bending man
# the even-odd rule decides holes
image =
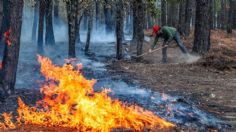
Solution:
[[[170,42],[176,35],[177,29],[174,27],[163,26],[160,31],[157,33],[155,40],[151,46],[154,49],[157,45],[158,39],[163,38],[164,42]]]

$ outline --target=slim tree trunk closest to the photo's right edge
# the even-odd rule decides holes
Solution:
[[[236,4],[235,4],[235,6],[236,6]],[[229,13],[228,13],[228,21],[227,21],[227,33],[232,33],[233,8],[234,8],[233,0],[229,0]]]

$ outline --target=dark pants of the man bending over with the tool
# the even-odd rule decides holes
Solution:
[[[175,34],[173,39],[175,40],[175,42],[179,46],[179,48],[182,51],[182,53],[187,54],[188,51],[187,51],[186,47],[184,46],[183,42],[180,39],[179,32],[176,32],[176,34]],[[166,44],[166,42],[164,43],[164,45],[165,44]],[[163,63],[167,63],[167,47],[162,49],[162,62]]]

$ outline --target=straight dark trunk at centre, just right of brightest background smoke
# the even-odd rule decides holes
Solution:
[[[117,12],[116,12],[116,58],[122,59],[122,38],[123,38],[123,27],[124,27],[124,8],[122,0],[117,1]]]

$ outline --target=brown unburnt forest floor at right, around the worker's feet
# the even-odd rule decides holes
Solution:
[[[146,33],[148,34],[148,32]],[[193,34],[183,38],[189,51]],[[159,92],[184,96],[202,109],[218,115],[236,130],[236,31],[212,32],[212,48],[204,57],[182,56],[175,44],[168,48],[168,64],[161,64],[161,51],[146,55],[142,62],[116,61],[113,69],[130,74],[141,84]],[[148,51],[150,43],[144,44]],[[135,51],[135,45],[127,46]]]

